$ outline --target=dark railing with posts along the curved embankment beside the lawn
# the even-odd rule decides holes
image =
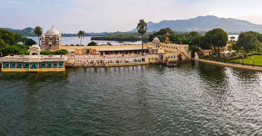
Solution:
[[[222,63],[229,63],[229,64],[233,64],[233,65],[242,65],[242,66],[248,66],[248,67],[261,67],[262,65],[256,65],[256,64],[247,64],[247,63],[239,63],[236,61],[229,61],[229,60],[222,60],[222,59],[215,59],[215,58],[207,58],[207,57],[199,57],[199,59],[203,59],[203,60],[210,60],[210,61],[215,61],[215,62],[222,62]]]

